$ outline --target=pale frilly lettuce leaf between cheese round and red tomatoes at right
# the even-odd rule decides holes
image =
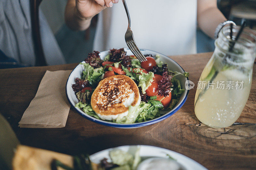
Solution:
[[[146,93],[146,90],[148,89],[148,87],[153,82],[153,77],[154,77],[154,73],[151,72],[151,71],[148,72],[147,74],[142,73],[142,74],[137,74],[136,75],[136,78],[139,81],[138,87],[141,87],[143,94]]]

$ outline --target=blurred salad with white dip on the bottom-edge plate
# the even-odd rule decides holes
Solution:
[[[52,161],[52,170],[61,167],[66,170],[156,170],[172,169],[185,170],[186,168],[166,154],[165,157],[141,157],[140,147],[132,154],[121,149],[113,149],[108,153],[109,158],[103,158],[99,163],[91,161],[89,155],[78,155],[73,158],[74,167],[69,167],[59,160]]]

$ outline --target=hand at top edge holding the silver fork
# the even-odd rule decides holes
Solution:
[[[118,0],[76,0],[76,12],[80,18],[89,19]]]

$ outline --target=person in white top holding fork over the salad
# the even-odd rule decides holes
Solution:
[[[213,37],[218,24],[227,20],[217,8],[217,0],[127,0],[126,3],[138,47],[165,55],[195,54],[197,24]],[[118,0],[68,0],[65,21],[73,30],[85,30],[98,13],[93,49],[127,47],[124,40],[127,16]]]

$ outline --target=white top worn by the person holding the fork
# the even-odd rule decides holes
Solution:
[[[139,48],[165,55],[196,53],[197,0],[126,0]],[[122,0],[99,14],[93,49],[127,47],[128,20]]]

